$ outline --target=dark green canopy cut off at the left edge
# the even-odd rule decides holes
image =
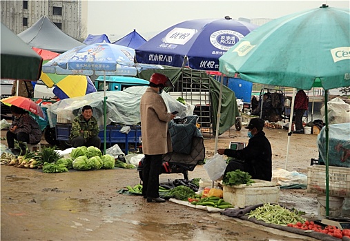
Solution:
[[[37,81],[41,56],[1,23],[1,78]]]

